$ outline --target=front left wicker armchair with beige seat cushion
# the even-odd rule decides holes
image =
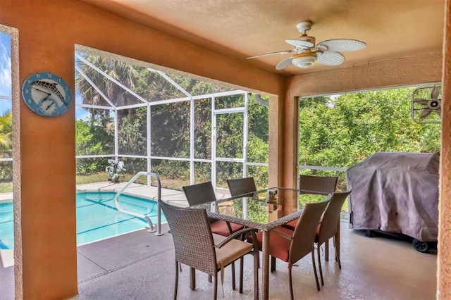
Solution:
[[[229,237],[222,237],[211,233],[209,220],[204,208],[181,208],[171,206],[159,200],[166,220],[168,221],[175,249],[175,289],[174,299],[177,299],[179,264],[190,267],[190,288],[195,289],[195,270],[200,270],[213,276],[214,299],[218,294],[218,272],[221,271],[223,283],[223,268],[240,259],[240,293],[243,282],[243,256],[254,256],[254,298],[259,297],[258,257],[257,244],[242,242],[235,237],[244,232],[251,232],[255,237],[255,230],[247,228],[235,232]]]

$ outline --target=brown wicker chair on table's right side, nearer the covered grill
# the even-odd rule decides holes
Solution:
[[[324,285],[323,270],[321,269],[321,258],[319,250],[321,244],[326,244],[324,251],[324,258],[329,260],[329,239],[333,237],[333,244],[335,246],[335,261],[338,262],[338,268],[341,269],[340,263],[340,212],[350,190],[346,192],[335,192],[331,194],[329,204],[321,217],[319,227],[316,230],[316,251],[318,253],[319,275],[321,277],[321,285]]]

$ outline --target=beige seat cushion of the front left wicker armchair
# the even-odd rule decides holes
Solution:
[[[223,241],[225,237],[221,235],[213,235],[215,244]],[[253,245],[247,242],[242,242],[239,239],[232,239],[230,242],[222,246],[221,248],[215,248],[217,268],[224,267],[233,261],[236,261],[241,256],[252,251]]]

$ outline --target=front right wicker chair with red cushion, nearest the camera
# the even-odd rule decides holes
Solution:
[[[290,296],[293,299],[292,275],[293,265],[299,259],[311,253],[313,262],[314,275],[316,280],[316,289],[319,290],[318,275],[316,273],[314,242],[316,237],[316,227],[319,218],[326,208],[328,200],[316,203],[308,203],[299,217],[299,222],[295,230],[289,230],[280,226],[269,232],[269,254],[271,255],[271,272],[276,270],[276,258],[288,262],[288,275],[290,277]],[[263,232],[257,233],[257,244],[261,250]],[[253,242],[253,237],[248,238],[249,242]]]

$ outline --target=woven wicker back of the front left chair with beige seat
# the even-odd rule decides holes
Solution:
[[[216,252],[204,208],[183,208],[159,200],[174,242],[175,261],[215,276]]]

